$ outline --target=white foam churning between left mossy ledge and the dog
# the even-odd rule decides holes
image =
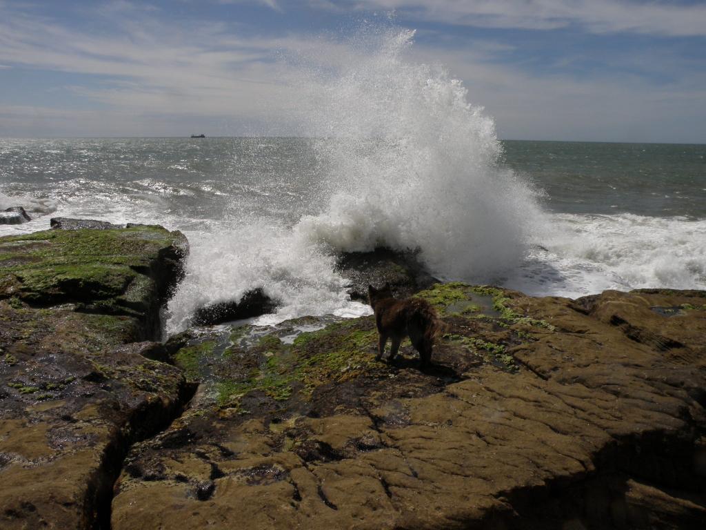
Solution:
[[[186,235],[191,256],[186,278],[167,308],[169,332],[188,326],[198,307],[240,300],[258,287],[280,307],[255,324],[276,324],[305,314],[370,313],[368,306],[349,300],[345,281],[333,271],[333,257],[301,241],[289,228],[258,220],[240,223],[237,230]]]

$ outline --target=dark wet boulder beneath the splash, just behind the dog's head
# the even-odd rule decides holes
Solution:
[[[397,298],[429,288],[438,280],[419,261],[419,252],[378,247],[372,252],[343,252],[337,270],[350,281],[352,300],[368,300],[368,285],[390,283]]]

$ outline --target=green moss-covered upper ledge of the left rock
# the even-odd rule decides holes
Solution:
[[[152,274],[157,288],[164,288],[157,274],[174,276],[185,242],[179,232],[151,226],[3,237],[0,299],[20,298],[33,305],[95,302],[124,295],[145,274]],[[146,287],[140,285],[140,291]]]

